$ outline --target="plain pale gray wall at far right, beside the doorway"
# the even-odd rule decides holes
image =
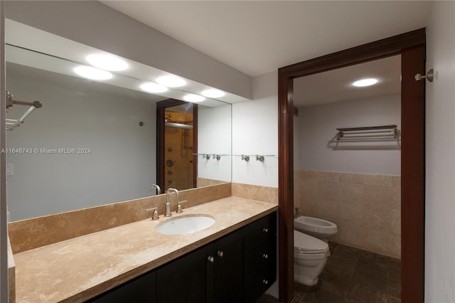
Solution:
[[[434,1],[427,28],[425,302],[455,302],[455,2]]]

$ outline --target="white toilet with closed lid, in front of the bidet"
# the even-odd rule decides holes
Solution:
[[[294,230],[294,281],[313,286],[327,262],[327,243]]]

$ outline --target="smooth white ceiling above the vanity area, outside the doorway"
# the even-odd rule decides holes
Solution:
[[[427,25],[432,1],[102,1],[252,77]]]

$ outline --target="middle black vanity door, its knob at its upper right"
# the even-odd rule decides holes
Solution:
[[[180,257],[156,271],[159,303],[208,302],[208,247]]]

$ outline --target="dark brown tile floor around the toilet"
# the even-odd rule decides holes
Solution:
[[[329,242],[331,256],[313,287],[294,284],[293,303],[400,303],[401,262]],[[257,303],[279,302],[264,294]]]

